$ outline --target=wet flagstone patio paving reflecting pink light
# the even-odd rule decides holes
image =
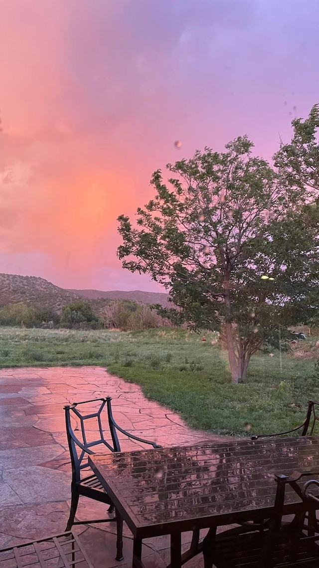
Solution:
[[[70,457],[64,404],[112,396],[114,418],[137,436],[163,446],[223,439],[194,431],[181,417],[147,400],[140,387],[101,367],[53,367],[0,370],[0,548],[64,532],[70,506]],[[124,444],[124,445],[123,445]],[[124,441],[122,450],[137,449]],[[144,446],[145,447],[145,446]],[[105,517],[105,506],[80,498],[77,519]],[[132,565],[132,535],[124,525],[124,561],[115,556],[115,524],[77,525],[75,532],[95,568]],[[184,549],[191,533],[183,534]],[[169,537],[146,539],[147,568],[169,563]],[[187,568],[203,566],[198,556]]]

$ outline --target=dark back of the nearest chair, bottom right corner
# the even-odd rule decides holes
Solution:
[[[305,480],[305,477],[308,479]],[[319,523],[316,518],[316,511],[319,509],[319,471],[303,473],[295,471],[290,476],[275,475],[275,481],[277,483],[275,506],[258,568],[272,568],[277,564],[284,564],[290,557],[295,560],[296,550],[300,544],[306,549],[314,544],[318,545],[317,541],[319,541]],[[284,528],[285,531],[289,531],[287,533],[289,534],[289,549],[283,546],[276,548],[278,538],[280,538],[283,515],[287,514],[284,513],[284,502],[288,488],[297,494],[299,503],[293,506],[295,516],[289,526]],[[305,519],[307,519],[307,525],[305,525]]]

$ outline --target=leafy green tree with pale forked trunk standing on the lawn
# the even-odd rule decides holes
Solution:
[[[244,381],[263,343],[278,344],[279,328],[283,337],[296,323],[291,306],[314,287],[319,250],[304,193],[252,149],[238,137],[225,152],[206,147],[168,164],[169,185],[154,172],[156,195],[138,208],[137,225],[118,218],[123,267],[165,286],[186,321],[220,331],[233,382]]]

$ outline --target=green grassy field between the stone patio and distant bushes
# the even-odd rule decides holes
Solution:
[[[247,436],[289,429],[303,420],[309,398],[319,399],[315,348],[303,357],[275,351],[251,360],[244,385],[230,382],[227,353],[182,329],[146,332],[0,328],[0,367],[107,366],[144,394],[178,411],[195,428]]]

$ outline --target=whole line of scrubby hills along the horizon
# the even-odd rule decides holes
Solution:
[[[99,290],[64,290],[44,278],[0,274],[0,307],[6,304],[24,302],[28,306],[51,308],[58,314],[74,300],[88,299],[95,311],[100,311],[111,299],[130,299],[139,303],[167,305],[167,294],[158,292],[133,292]]]

